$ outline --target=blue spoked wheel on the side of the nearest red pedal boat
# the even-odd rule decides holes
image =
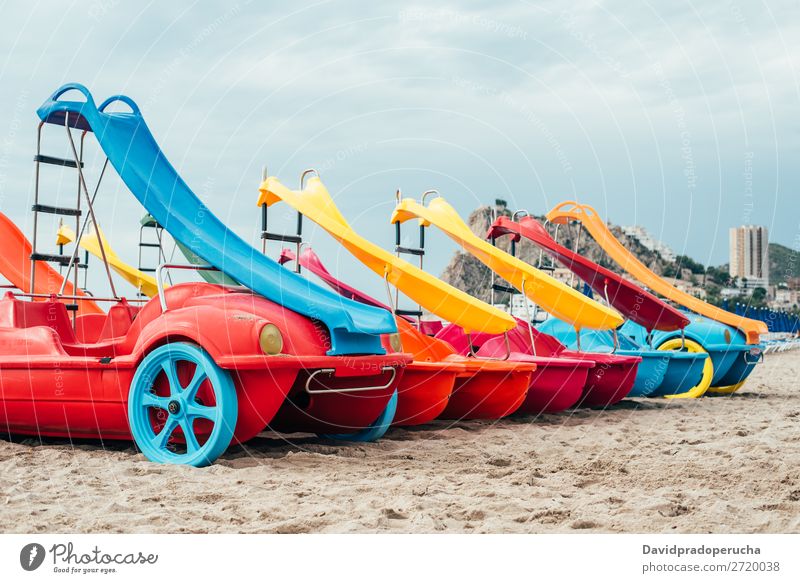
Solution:
[[[131,434],[147,459],[195,467],[230,445],[238,415],[230,375],[194,344],[166,344],[144,357],[128,394]]]

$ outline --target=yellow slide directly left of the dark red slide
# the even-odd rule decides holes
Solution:
[[[543,310],[569,322],[576,330],[612,330],[622,325],[622,316],[613,308],[599,304],[475,235],[443,197],[437,196],[427,206],[404,198],[397,203],[391,221],[402,223],[413,218],[419,219],[423,226],[435,225],[444,231]]]

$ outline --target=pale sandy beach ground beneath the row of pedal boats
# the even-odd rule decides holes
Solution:
[[[0,441],[0,532],[800,532],[800,352],[730,397],[380,443],[265,436],[205,469]]]

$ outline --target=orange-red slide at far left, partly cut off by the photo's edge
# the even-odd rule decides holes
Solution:
[[[31,242],[11,219],[0,213],[0,274],[23,292],[31,291],[31,252]],[[36,288],[33,293],[57,294],[64,281],[61,274],[44,261],[37,261],[35,265]],[[64,287],[64,295],[71,296],[74,293],[74,287],[68,281]],[[86,294],[78,290],[77,295]],[[91,300],[80,300],[75,303],[78,304],[78,315],[103,313],[103,310]]]

